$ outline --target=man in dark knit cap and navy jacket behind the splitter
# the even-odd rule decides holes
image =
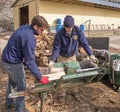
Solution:
[[[67,15],[63,22],[63,28],[55,35],[49,67],[52,67],[55,61],[76,61],[76,54],[79,45],[84,48],[93,62],[97,62],[97,58],[93,55],[84,33],[79,27],[74,25],[74,18]],[[77,89],[75,89],[74,92],[77,93]],[[59,94],[59,96],[64,95],[65,91],[61,91]],[[78,95],[76,95],[76,97],[78,100]]]

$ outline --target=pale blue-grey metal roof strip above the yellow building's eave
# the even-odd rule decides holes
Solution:
[[[97,5],[109,6],[109,7],[114,7],[114,8],[120,8],[120,4],[107,2],[107,1],[103,1],[103,0],[79,0],[79,1],[93,3],[93,4],[97,4]]]

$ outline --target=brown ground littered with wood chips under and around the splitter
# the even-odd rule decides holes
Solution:
[[[120,53],[120,50],[110,48],[111,52]],[[13,112],[5,110],[5,93],[7,88],[7,74],[0,68],[0,112]],[[33,76],[26,75],[27,87],[33,85]],[[79,86],[79,97],[77,101],[71,94],[66,95],[65,105],[54,105],[53,99],[48,93],[44,103],[43,112],[120,112],[120,93],[115,92],[102,82]],[[40,100],[38,94],[25,96],[26,108],[30,112],[40,112]]]

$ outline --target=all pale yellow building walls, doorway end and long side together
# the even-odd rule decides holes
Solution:
[[[19,0],[14,7],[15,29],[19,27],[19,8],[26,5],[29,6],[29,21],[33,16],[39,14],[44,16],[50,26],[53,27],[56,25],[56,19],[60,18],[63,22],[67,14],[75,18],[75,24],[78,26],[83,23],[86,26],[89,22],[91,22],[92,29],[113,26],[117,28],[120,26],[119,11],[40,0]]]

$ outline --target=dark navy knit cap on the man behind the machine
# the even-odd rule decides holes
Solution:
[[[70,15],[67,15],[63,22],[64,27],[72,28],[74,26],[74,18]]]

